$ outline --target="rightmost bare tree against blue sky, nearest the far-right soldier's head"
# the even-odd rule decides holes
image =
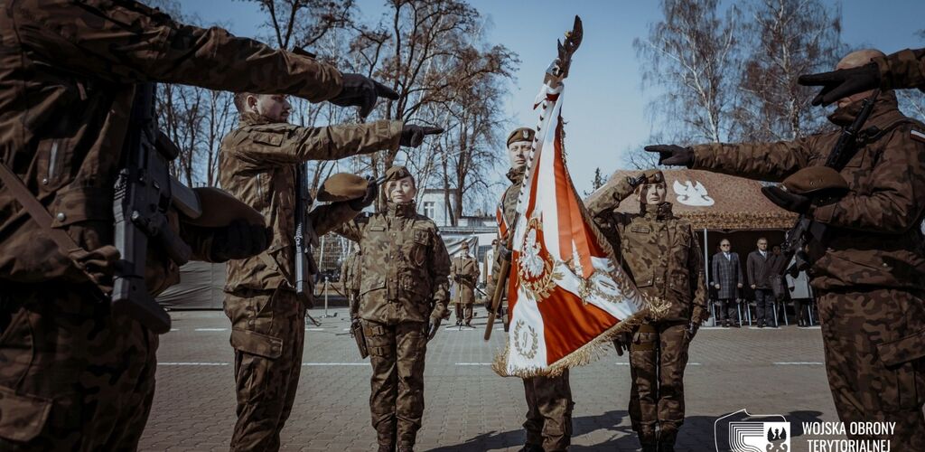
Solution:
[[[845,54],[840,8],[819,0],[755,0],[748,10],[735,140],[793,140],[820,131],[827,123],[812,111],[816,90],[796,78],[831,70]]]

